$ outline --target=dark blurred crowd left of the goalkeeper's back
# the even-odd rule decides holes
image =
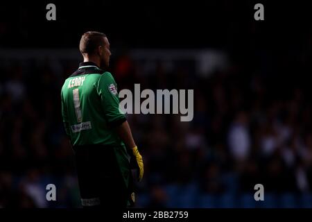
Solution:
[[[28,62],[1,66],[0,205],[50,207],[51,183],[57,187],[55,207],[78,206],[73,153],[60,121],[62,78]]]

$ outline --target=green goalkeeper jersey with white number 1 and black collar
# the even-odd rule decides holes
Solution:
[[[114,126],[125,121],[116,82],[93,62],[82,62],[62,86],[62,117],[71,144],[125,146]]]

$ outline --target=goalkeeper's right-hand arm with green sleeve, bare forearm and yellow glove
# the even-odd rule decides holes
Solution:
[[[135,159],[135,167],[139,169],[138,179],[141,180],[144,174],[143,159],[132,137],[130,126],[125,119],[125,114],[119,110],[119,96],[116,82],[112,77],[112,74],[109,72],[102,74],[98,80],[97,89],[105,110],[105,119],[112,128],[116,129],[116,133],[119,135],[125,146],[131,149],[130,155],[132,155],[132,160]]]

